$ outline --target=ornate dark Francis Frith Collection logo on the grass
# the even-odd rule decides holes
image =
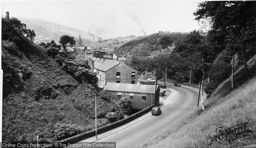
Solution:
[[[247,129],[248,122],[234,125],[232,127],[218,127],[216,132],[218,136],[216,137],[217,142],[228,141],[229,143],[237,142],[239,139],[250,138],[250,132],[253,132]]]

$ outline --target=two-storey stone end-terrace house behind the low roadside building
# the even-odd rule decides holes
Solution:
[[[118,57],[118,60],[95,60],[93,72],[96,72],[101,88],[108,82],[137,84],[138,71],[125,64],[124,56]]]

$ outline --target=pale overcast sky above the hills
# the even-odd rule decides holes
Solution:
[[[200,26],[195,0],[2,0],[2,15],[60,23],[103,39],[190,32]]]

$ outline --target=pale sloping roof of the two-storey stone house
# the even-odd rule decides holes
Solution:
[[[118,61],[99,59],[94,62],[94,68],[99,69],[100,71],[107,71],[118,64]]]

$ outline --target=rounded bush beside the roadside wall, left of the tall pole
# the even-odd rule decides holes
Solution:
[[[66,125],[64,123],[56,123],[53,131],[57,140],[62,140],[80,134],[84,132],[84,129],[76,124]]]

